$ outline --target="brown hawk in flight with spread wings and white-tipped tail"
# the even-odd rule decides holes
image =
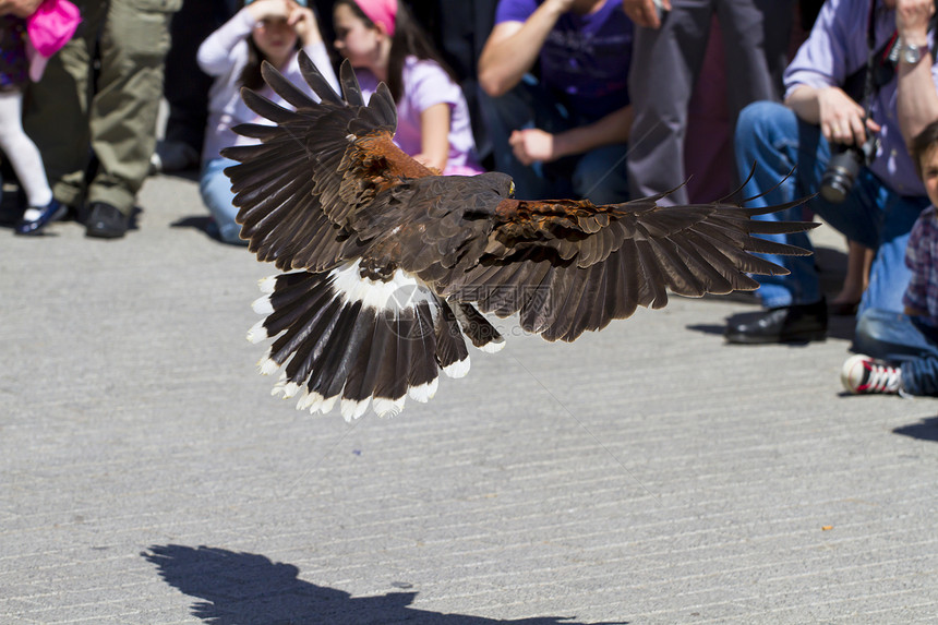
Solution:
[[[712,203],[662,206],[513,197],[504,173],[440,176],[393,137],[394,99],[378,85],[364,101],[348,61],[341,95],[313,62],[300,68],[315,101],[269,64],[266,83],[294,110],[242,89],[270,124],[236,131],[260,140],[226,148],[241,237],[282,273],[261,281],[264,315],[252,341],[273,338],[262,373],[282,368],[274,394],[298,409],[346,420],[371,404],[397,414],[409,395],[433,397],[440,371],[469,370],[466,339],[496,351],[504,338],[483,313],[518,314],[520,327],[572,341],[682,296],[751,290],[748,274],[782,267],[756,256],[807,254],[754,235],[814,224],[760,221],[768,208]]]

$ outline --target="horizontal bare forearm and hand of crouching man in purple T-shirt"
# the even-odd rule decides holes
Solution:
[[[614,110],[602,119],[557,134],[539,129],[516,130],[508,143],[525,165],[536,160],[551,161],[582,154],[602,145],[625,143],[632,130],[632,106]]]

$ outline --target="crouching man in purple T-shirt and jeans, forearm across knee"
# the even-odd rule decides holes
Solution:
[[[620,0],[498,2],[480,104],[495,168],[518,197],[628,200],[632,29]]]

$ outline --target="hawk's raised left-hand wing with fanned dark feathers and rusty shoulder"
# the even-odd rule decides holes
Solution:
[[[237,128],[261,143],[223,155],[239,161],[226,173],[249,249],[281,269],[322,272],[361,253],[364,242],[350,228],[357,209],[402,179],[432,172],[392,142],[397,117],[386,88],[364,106],[348,63],[342,96],[304,53],[300,67],[321,101],[265,63],[265,81],[296,110],[245,89],[245,103],[276,125]]]

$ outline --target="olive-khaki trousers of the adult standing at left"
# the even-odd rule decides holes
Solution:
[[[169,21],[182,0],[74,1],[82,24],[29,87],[23,123],[57,200],[130,214],[156,144]],[[86,179],[92,154],[98,166]]]

